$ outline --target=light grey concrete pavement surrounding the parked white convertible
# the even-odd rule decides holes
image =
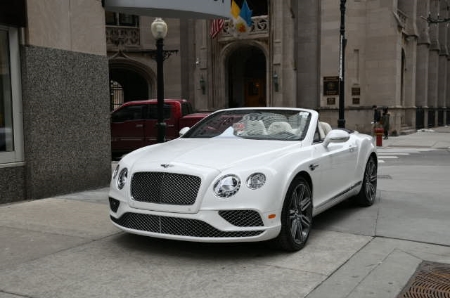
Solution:
[[[390,147],[450,150],[450,128],[383,140]],[[294,254],[122,233],[108,188],[0,205],[0,298],[394,298],[422,261],[450,264],[450,168],[420,170],[380,166],[393,179],[379,180],[374,206],[321,214]]]

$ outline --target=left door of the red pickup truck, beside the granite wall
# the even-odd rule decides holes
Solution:
[[[126,105],[111,115],[111,149],[129,152],[145,144],[145,104]]]

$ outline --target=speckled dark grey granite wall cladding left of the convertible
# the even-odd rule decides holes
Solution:
[[[107,186],[107,58],[35,46],[21,56],[26,198]]]

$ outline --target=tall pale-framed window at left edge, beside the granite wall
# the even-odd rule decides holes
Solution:
[[[19,38],[0,26],[0,164],[23,161]]]

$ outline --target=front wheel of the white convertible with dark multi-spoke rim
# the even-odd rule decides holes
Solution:
[[[302,249],[312,226],[312,192],[303,177],[296,177],[286,193],[281,211],[281,231],[274,244],[286,251]]]

